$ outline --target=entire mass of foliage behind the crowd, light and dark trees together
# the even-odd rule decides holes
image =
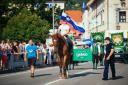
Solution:
[[[39,6],[34,9],[37,3]],[[52,25],[52,9],[46,10],[45,3],[46,0],[0,0],[0,39],[44,41]],[[61,13],[55,6],[55,22]]]

